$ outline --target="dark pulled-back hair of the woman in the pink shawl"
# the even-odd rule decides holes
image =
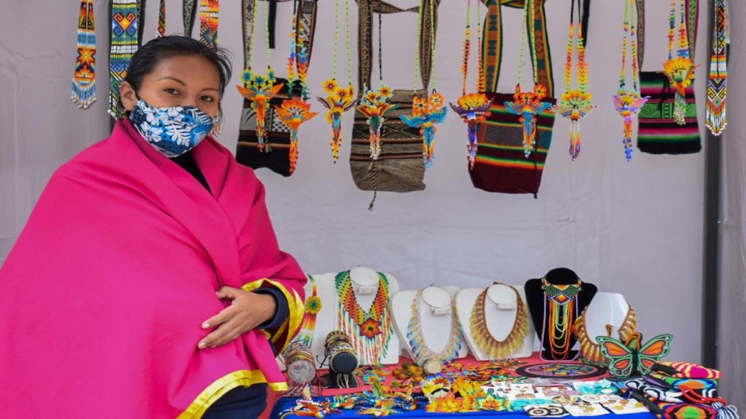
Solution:
[[[135,92],[140,89],[142,78],[153,71],[161,60],[180,55],[200,55],[213,63],[220,74],[220,96],[231,81],[231,54],[219,46],[207,46],[194,38],[169,35],[155,38],[142,45],[132,56],[125,81]]]

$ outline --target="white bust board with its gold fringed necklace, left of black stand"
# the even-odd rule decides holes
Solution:
[[[535,332],[528,318],[522,286],[494,283],[486,289],[463,289],[456,297],[456,306],[469,351],[475,359],[531,356]],[[498,353],[501,355],[496,356]]]

